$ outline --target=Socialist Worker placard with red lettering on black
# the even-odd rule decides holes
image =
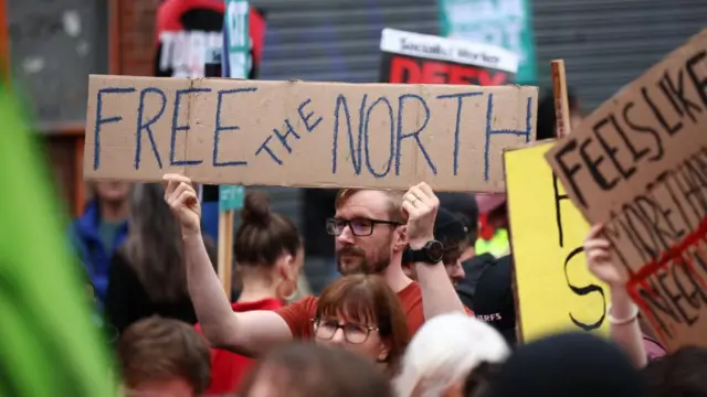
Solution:
[[[518,56],[490,44],[384,29],[381,82],[504,85],[514,82]]]

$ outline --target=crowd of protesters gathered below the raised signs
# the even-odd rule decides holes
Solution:
[[[551,101],[544,106],[553,114]],[[342,189],[331,213],[307,219],[326,232],[340,277],[318,297],[295,299],[309,244],[249,189],[232,299],[188,178],[93,187],[71,238],[124,395],[707,396],[707,350],[666,354],[626,293],[601,225],[584,250],[610,288],[609,340],[561,333],[523,343],[513,253],[476,248],[481,213],[508,227],[503,200],[479,205],[488,197],[435,193],[424,182],[407,192]]]

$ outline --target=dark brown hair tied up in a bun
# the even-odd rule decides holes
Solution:
[[[283,253],[293,257],[302,247],[297,227],[289,218],[274,214],[267,193],[249,190],[241,210],[233,253],[239,265],[273,265]]]

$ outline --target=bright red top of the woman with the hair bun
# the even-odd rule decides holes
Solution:
[[[276,310],[283,307],[283,302],[277,299],[263,299],[255,302],[233,303],[234,312],[246,312],[253,310]],[[201,332],[201,326],[196,325]],[[204,393],[209,395],[224,395],[234,393],[241,385],[241,379],[247,373],[253,360],[220,348],[211,350],[211,386]]]

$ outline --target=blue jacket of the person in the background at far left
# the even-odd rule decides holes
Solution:
[[[125,242],[128,234],[128,225],[127,221],[120,225],[112,250],[109,250],[110,247],[104,247],[98,233],[99,227],[101,211],[98,208],[98,202],[94,200],[86,205],[84,214],[72,223],[70,236],[74,249],[91,278],[96,298],[98,298],[98,302],[103,305],[108,291],[110,259],[113,258],[115,248]]]

